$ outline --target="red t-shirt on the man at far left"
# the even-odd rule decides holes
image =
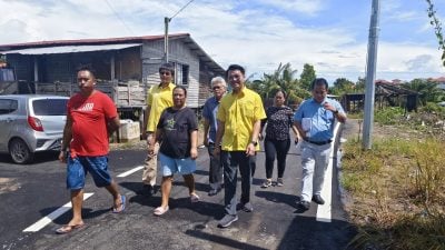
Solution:
[[[80,93],[68,101],[68,116],[72,120],[71,157],[108,154],[107,122],[118,116],[112,100],[96,90],[88,98]]]

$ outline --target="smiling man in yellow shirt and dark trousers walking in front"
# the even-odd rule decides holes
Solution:
[[[227,228],[238,220],[238,209],[246,212],[254,211],[250,202],[250,164],[256,160],[261,119],[266,118],[261,98],[245,86],[245,69],[231,64],[226,71],[226,77],[233,91],[219,103],[215,146],[222,143],[221,148],[215,147],[214,151],[215,156],[220,153],[224,166],[225,217],[218,222],[218,227],[221,228]],[[239,203],[236,199],[238,167],[241,174]]]

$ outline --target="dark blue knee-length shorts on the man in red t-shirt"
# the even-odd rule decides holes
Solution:
[[[108,157],[68,157],[67,189],[79,190],[85,187],[85,178],[90,172],[98,188],[111,184],[108,172]]]

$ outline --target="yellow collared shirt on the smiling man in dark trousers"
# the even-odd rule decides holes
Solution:
[[[265,118],[261,98],[255,91],[244,87],[239,93],[224,96],[217,114],[217,119],[225,123],[222,150],[246,150],[251,141],[254,123]],[[259,150],[259,144],[256,148]]]

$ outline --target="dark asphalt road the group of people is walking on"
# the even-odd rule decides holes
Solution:
[[[141,170],[119,178],[141,166],[141,150],[111,151],[110,168],[123,194],[128,197],[125,213],[110,212],[111,197],[87,179],[86,192],[93,193],[83,203],[86,227],[58,236],[55,229],[67,223],[70,210],[49,221],[36,232],[23,232],[43,217],[69,203],[65,184],[65,166],[55,153],[42,154],[28,166],[12,164],[0,156],[0,248],[1,249],[345,249],[354,236],[345,219],[337,192],[336,168],[332,183],[332,222],[316,220],[317,206],[296,213],[300,187],[300,160],[295,147],[287,158],[285,187],[261,189],[265,177],[264,152],[258,153],[251,189],[254,212],[239,211],[239,220],[220,229],[224,192],[208,197],[208,156],[199,150],[196,189],[201,197],[190,203],[180,176],[175,178],[170,210],[155,217],[160,193],[140,193]],[[159,174],[158,174],[159,177]],[[276,171],[274,172],[274,179]],[[160,179],[158,179],[158,183]],[[238,186],[237,190],[240,190]],[[239,192],[238,192],[239,194]],[[326,204],[325,204],[326,206]]]

